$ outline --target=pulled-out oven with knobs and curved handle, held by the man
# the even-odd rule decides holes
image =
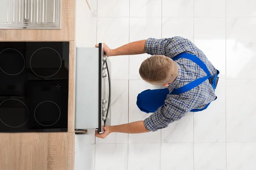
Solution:
[[[75,129],[111,125],[111,62],[102,43],[98,48],[76,48]]]

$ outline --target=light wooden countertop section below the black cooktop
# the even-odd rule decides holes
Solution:
[[[0,170],[73,170],[75,133],[2,133]]]

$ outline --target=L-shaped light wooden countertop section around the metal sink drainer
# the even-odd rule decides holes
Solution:
[[[62,0],[61,30],[0,29],[0,41],[75,40],[76,0]]]

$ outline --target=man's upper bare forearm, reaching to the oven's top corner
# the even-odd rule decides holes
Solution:
[[[144,54],[145,42],[146,40],[135,41],[135,42],[131,42],[129,44],[123,45],[119,48],[113,49],[111,56]]]

